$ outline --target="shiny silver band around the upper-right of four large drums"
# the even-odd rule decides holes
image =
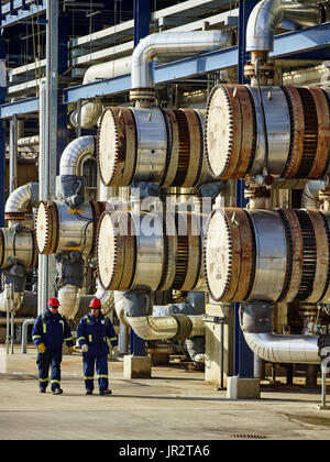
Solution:
[[[265,163],[265,136],[262,121],[262,108],[257,88],[248,87],[255,106],[256,116],[256,152],[251,175],[261,172]],[[286,97],[280,87],[261,88],[266,131],[268,139],[268,169],[273,175],[280,175],[285,168],[290,148],[290,114]]]

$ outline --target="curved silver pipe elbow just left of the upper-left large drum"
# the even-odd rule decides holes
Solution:
[[[80,136],[72,141],[63,151],[59,162],[59,175],[82,176],[82,164],[95,156],[95,138]]]

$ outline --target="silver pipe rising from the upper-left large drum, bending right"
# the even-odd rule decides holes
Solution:
[[[228,46],[227,31],[161,32],[142,38],[132,55],[131,88],[154,88],[152,61],[165,55],[190,55]]]

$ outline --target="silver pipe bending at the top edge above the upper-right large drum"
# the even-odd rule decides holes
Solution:
[[[307,6],[287,0],[263,0],[257,3],[248,21],[246,52],[273,52],[275,29],[289,20],[300,26],[322,22],[318,6]],[[253,59],[252,59],[253,61]]]

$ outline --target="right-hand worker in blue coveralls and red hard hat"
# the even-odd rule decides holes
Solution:
[[[77,338],[82,350],[84,378],[86,395],[92,395],[95,365],[99,395],[111,395],[108,381],[108,353],[110,340],[117,346],[117,334],[112,322],[101,312],[101,301],[94,298],[89,304],[90,312],[80,319]]]

